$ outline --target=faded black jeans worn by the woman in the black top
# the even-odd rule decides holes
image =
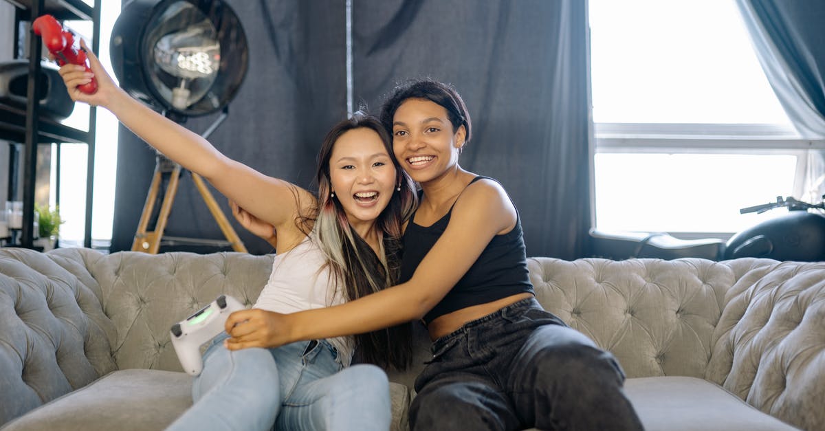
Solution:
[[[613,355],[535,298],[464,324],[432,353],[413,429],[642,429]]]

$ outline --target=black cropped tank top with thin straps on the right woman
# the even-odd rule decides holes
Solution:
[[[482,178],[496,181],[493,178],[479,176],[469,183]],[[455,203],[453,205],[455,206]],[[400,282],[408,282],[413,277],[418,264],[441,238],[441,234],[444,234],[452,212],[453,209],[450,207],[446,215],[429,227],[416,225],[413,221],[415,213],[410,217],[403,235]],[[464,277],[461,277],[441,302],[424,315],[424,323],[429,324],[441,315],[471,305],[486,304],[525,292],[533,293],[533,285],[527,272],[524,236],[516,210],[516,226],[507,234],[496,235],[490,240]]]

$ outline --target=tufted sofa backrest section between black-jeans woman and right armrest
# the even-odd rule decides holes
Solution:
[[[627,377],[705,377],[736,281],[704,259],[530,258],[529,268],[544,309],[612,352]]]

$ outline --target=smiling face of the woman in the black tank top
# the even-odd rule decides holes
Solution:
[[[444,107],[427,99],[408,99],[393,116],[393,150],[410,177],[428,182],[458,166],[464,126],[453,130]]]

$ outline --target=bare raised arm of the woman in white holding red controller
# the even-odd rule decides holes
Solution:
[[[81,42],[81,45],[86,48],[85,43]],[[225,196],[276,227],[291,224],[296,211],[303,210],[296,202],[296,190],[302,194],[300,201],[307,206],[314,203],[309,192],[227,158],[200,135],[134,100],[115,85],[91,50],[87,50],[87,54],[93,75],[77,64],[60,68],[60,75],[74,101],[105,107],[146,143],[184,168],[200,174]],[[81,92],[78,86],[88,83],[92,76],[97,78],[97,92]]]

